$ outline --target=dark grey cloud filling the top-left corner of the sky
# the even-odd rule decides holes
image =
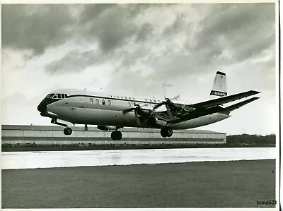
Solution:
[[[2,47],[32,49],[42,54],[46,47],[62,43],[70,25],[69,6],[60,4],[2,5]]]

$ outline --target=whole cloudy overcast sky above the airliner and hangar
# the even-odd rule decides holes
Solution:
[[[276,132],[275,4],[4,4],[1,67],[2,124],[51,125],[37,104],[59,88],[209,100],[223,71],[261,98],[200,129]]]

